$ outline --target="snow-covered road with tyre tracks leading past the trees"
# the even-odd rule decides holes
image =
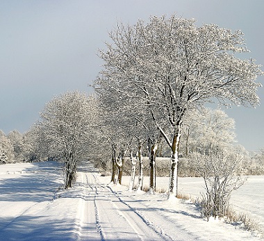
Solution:
[[[172,240],[157,233],[119,194],[98,183],[92,172],[82,172],[81,180],[79,240]]]

